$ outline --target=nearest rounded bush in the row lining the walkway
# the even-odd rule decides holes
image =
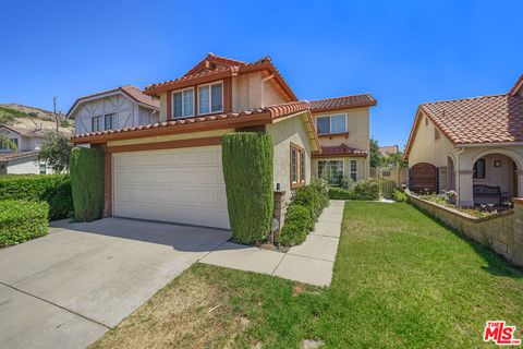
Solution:
[[[301,244],[313,228],[311,209],[303,205],[290,205],[287,209],[285,224],[280,231],[277,243],[284,246]]]

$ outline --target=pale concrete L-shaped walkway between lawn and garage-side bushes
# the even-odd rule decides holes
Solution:
[[[329,286],[338,253],[344,205],[344,201],[331,200],[305,242],[291,248],[287,253],[226,242],[199,262]]]

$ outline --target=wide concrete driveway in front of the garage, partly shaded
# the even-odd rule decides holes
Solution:
[[[0,346],[85,348],[230,231],[107,218],[0,250]]]

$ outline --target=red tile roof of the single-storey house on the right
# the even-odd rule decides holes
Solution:
[[[454,145],[523,141],[523,97],[509,94],[419,105],[406,145],[406,158],[422,116]]]

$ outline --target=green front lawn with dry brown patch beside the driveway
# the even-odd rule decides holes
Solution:
[[[487,320],[523,337],[521,268],[408,204],[351,202],[331,287],[197,264],[94,347],[472,348]]]

